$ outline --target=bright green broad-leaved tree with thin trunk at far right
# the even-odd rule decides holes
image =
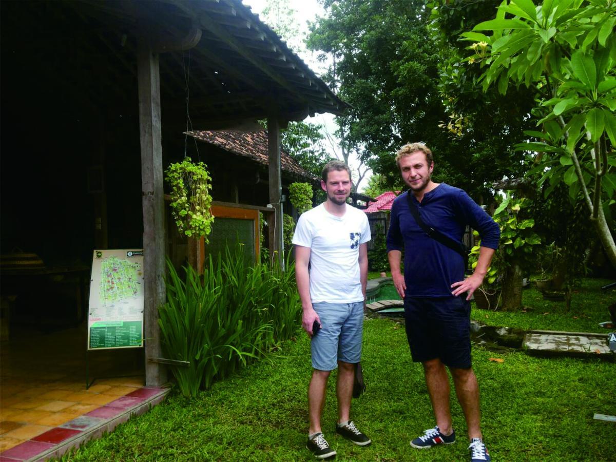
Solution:
[[[462,34],[472,43],[484,89],[535,90],[532,111],[540,131],[519,145],[538,152],[540,184],[561,180],[591,213],[599,239],[616,267],[610,207],[616,205],[616,0],[503,1],[496,18]]]

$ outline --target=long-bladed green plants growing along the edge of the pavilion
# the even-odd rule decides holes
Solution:
[[[184,278],[167,262],[167,302],[159,309],[163,350],[186,397],[264,355],[299,328],[301,309],[293,263],[285,272],[274,262],[246,265],[243,245]]]

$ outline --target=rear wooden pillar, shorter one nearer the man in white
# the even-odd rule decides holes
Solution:
[[[267,217],[269,232],[270,253],[272,259],[277,258],[283,264],[282,245],[282,204],[280,194],[282,182],[280,180],[280,121],[275,117],[267,118],[267,154],[269,160],[269,197],[270,204],[274,206],[275,213]]]

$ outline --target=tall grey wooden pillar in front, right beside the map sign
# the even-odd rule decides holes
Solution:
[[[137,52],[139,84],[139,133],[141,185],[144,211],[144,342],[145,384],[167,381],[166,367],[150,362],[163,357],[158,327],[158,307],[165,301],[163,149],[160,120],[160,70],[158,54],[149,46]]]

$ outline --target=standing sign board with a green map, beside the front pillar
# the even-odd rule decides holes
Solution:
[[[144,253],[95,250],[92,257],[87,348],[143,345]]]

